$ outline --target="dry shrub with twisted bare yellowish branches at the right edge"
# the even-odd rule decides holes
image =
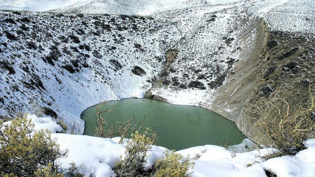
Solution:
[[[290,106],[286,100],[279,97],[279,94],[283,93],[285,94],[285,91],[276,89],[268,98],[262,99],[255,105],[251,111],[254,115],[251,118],[258,119],[261,133],[268,138],[271,147],[278,150],[266,158],[295,155],[306,149],[303,141],[314,138],[315,99],[311,87],[309,87],[311,102],[307,106],[301,104],[296,107]],[[267,143],[263,142],[263,144]]]

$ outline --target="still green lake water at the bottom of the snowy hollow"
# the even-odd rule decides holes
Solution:
[[[156,127],[159,137],[157,145],[168,149],[181,150],[193,146],[220,145],[226,141],[236,145],[246,137],[238,130],[235,123],[221,115],[193,106],[172,105],[154,99],[123,99],[109,101],[105,107],[116,108],[106,113],[109,125],[124,122],[128,116],[136,114],[137,119],[145,115],[146,126]],[[85,121],[85,135],[94,134],[95,107],[82,112]]]

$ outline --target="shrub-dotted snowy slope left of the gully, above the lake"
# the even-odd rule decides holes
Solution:
[[[53,108],[80,123],[103,100],[143,97],[180,38],[163,19],[0,12],[1,113]]]

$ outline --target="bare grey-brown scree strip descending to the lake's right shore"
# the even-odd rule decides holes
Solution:
[[[215,99],[210,105],[204,102],[203,106],[234,121],[246,136],[250,136],[249,120],[242,119],[241,114],[260,82],[264,65],[261,54],[268,40],[268,26],[263,19],[255,19],[237,38],[241,46],[237,52],[238,61],[227,73],[226,84],[215,91]]]

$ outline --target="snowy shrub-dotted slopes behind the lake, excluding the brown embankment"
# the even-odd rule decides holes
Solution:
[[[166,9],[153,18],[1,12],[1,113],[26,111],[38,103],[82,126],[78,117],[87,107],[100,100],[143,97],[153,82],[147,96],[211,108],[215,91],[229,87],[225,78],[241,59],[238,51],[246,53],[239,36],[253,20],[263,18],[273,31],[315,32],[311,0],[115,2],[134,12],[152,3]],[[295,20],[298,9],[301,20]],[[257,37],[256,31],[247,33]]]

